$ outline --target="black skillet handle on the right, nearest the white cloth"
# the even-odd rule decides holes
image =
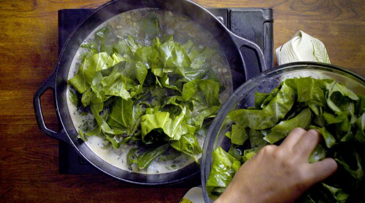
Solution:
[[[265,62],[265,56],[261,48],[244,38],[241,38],[235,35],[233,32],[230,31],[230,35],[235,42],[237,48],[239,49],[241,59],[243,62],[243,66],[246,73],[246,81],[252,78],[253,76],[264,72],[268,69],[267,64]],[[244,51],[244,50],[245,51]],[[247,55],[247,53],[248,55]],[[252,52],[252,53],[249,53]],[[251,60],[249,58],[254,58],[256,60]],[[246,60],[245,60],[246,59]]]

